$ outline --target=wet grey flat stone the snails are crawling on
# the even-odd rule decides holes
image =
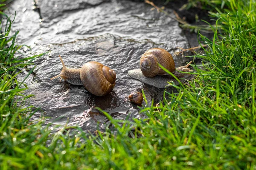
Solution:
[[[41,107],[47,122],[64,125],[78,124],[84,130],[104,129],[108,119],[95,107],[116,119],[143,116],[127,96],[143,89],[148,100],[157,103],[163,99],[158,89],[128,76],[128,70],[139,68],[141,55],[150,48],[164,48],[171,54],[179,48],[189,48],[178,23],[163,13],[151,11],[151,6],[132,1],[110,0],[16,0],[9,11],[17,11],[13,31],[19,30],[19,43],[26,56],[49,52],[35,60],[34,74],[26,79],[34,94],[31,105]],[[168,10],[172,14],[172,10]],[[8,13],[8,11],[6,11]],[[10,14],[10,13],[9,13]],[[42,18],[42,19],[41,19]],[[59,79],[61,55],[66,65],[84,65],[101,62],[116,71],[116,85],[110,94],[102,97],[90,94],[83,86],[70,85]],[[19,55],[17,54],[17,57]],[[22,57],[22,56],[20,56]],[[176,67],[189,59],[174,55]],[[27,72],[19,77],[23,79]],[[173,89],[169,88],[169,92]],[[143,102],[145,105],[145,102]],[[36,113],[36,117],[41,113]]]

